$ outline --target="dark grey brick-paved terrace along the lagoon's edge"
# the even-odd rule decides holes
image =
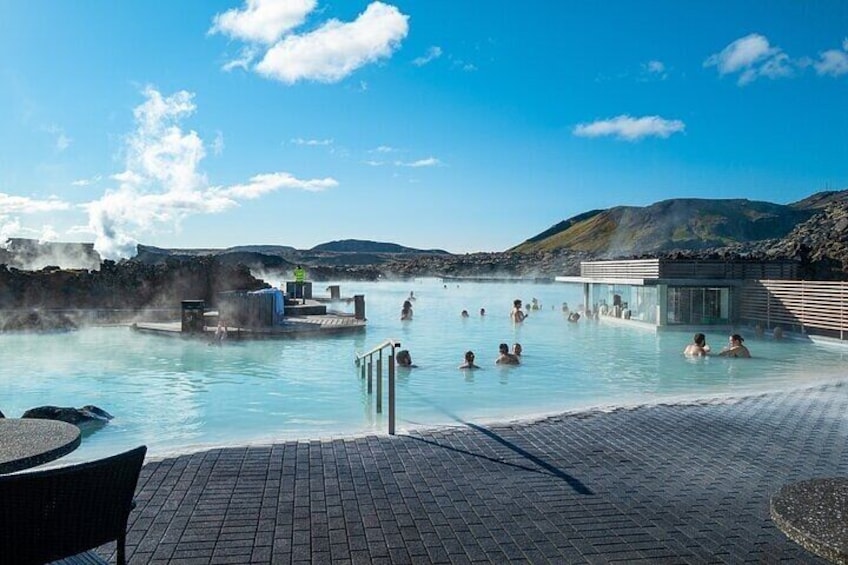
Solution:
[[[834,475],[848,475],[848,382],[148,463],[128,553],[186,565],[821,563],[771,522],[769,497]]]

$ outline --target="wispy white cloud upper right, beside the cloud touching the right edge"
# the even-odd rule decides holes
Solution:
[[[740,86],[759,76],[779,78],[792,74],[788,55],[779,47],[772,47],[768,39],[758,33],[739,38],[721,52],[710,55],[704,67],[716,67],[722,76],[739,73]]]

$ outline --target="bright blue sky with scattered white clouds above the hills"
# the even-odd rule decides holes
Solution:
[[[848,188],[848,2],[0,0],[0,243],[499,251]]]

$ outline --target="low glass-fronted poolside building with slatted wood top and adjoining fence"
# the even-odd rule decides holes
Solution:
[[[799,281],[795,261],[588,261],[584,309],[657,327],[761,324],[848,339],[848,283]]]

